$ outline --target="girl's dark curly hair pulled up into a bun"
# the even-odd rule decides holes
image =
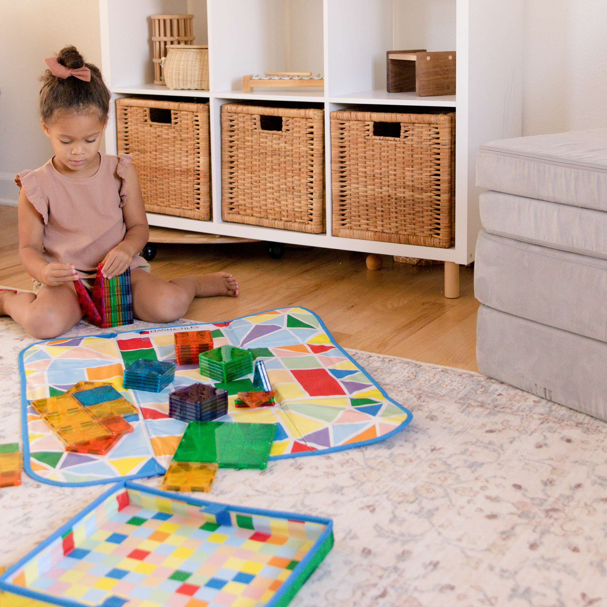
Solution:
[[[69,69],[88,67],[90,82],[69,76],[57,78],[50,70],[46,70],[40,77],[40,116],[45,123],[52,120],[55,110],[66,112],[89,112],[95,108],[100,120],[105,123],[109,114],[110,92],[103,82],[101,70],[92,63],[84,63],[84,57],[75,46],[66,46],[59,51],[57,61]]]

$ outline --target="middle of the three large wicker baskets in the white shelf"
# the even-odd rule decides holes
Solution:
[[[222,217],[325,231],[324,110],[222,106]]]

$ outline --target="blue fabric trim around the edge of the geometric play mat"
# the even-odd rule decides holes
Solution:
[[[268,312],[282,310],[287,307],[299,308],[300,310],[305,310],[308,313],[312,314],[312,316],[314,316],[316,318],[316,320],[318,320],[320,328],[322,328],[322,330],[325,332],[325,334],[329,338],[331,344],[333,344],[334,347],[337,348],[337,350],[341,351],[341,353],[350,362],[352,362],[354,364],[354,366],[356,366],[356,368],[358,368],[360,371],[362,371],[362,373],[364,373],[364,375],[369,379],[371,384],[375,385],[375,387],[378,388],[379,392],[381,392],[382,396],[384,396],[384,398],[387,401],[392,402],[392,404],[396,405],[396,407],[401,409],[402,412],[407,413],[407,419],[405,419],[399,426],[397,426],[394,430],[392,430],[392,432],[388,432],[387,434],[378,436],[376,438],[370,438],[370,439],[367,439],[366,441],[359,441],[358,443],[348,443],[347,445],[330,447],[329,449],[317,449],[316,451],[298,451],[297,453],[286,453],[284,455],[272,455],[272,456],[270,456],[270,458],[268,458],[268,461],[274,461],[276,459],[288,459],[288,458],[294,458],[294,457],[305,457],[308,455],[324,455],[325,453],[334,453],[337,451],[344,451],[346,449],[353,449],[354,447],[362,447],[362,446],[370,445],[373,443],[379,443],[379,441],[384,441],[385,439],[390,438],[390,436],[395,435],[397,432],[401,432],[401,430],[403,430],[405,428],[405,426],[409,425],[409,423],[413,419],[413,414],[409,411],[409,409],[406,409],[401,404],[396,402],[394,399],[390,398],[390,396],[388,396],[387,393],[385,392],[384,388],[382,388],[381,385],[379,385],[378,382],[376,382],[375,379],[373,379],[369,375],[369,373],[367,371],[365,371],[365,369],[362,368],[361,365],[359,365],[358,362],[356,362],[350,356],[350,354],[348,354],[344,350],[344,348],[341,347],[341,345],[337,344],[337,342],[333,339],[331,332],[328,330],[327,325],[325,325],[324,322],[322,321],[322,319],[320,318],[320,316],[318,316],[318,314],[316,314],[312,310],[309,310],[308,308],[303,308],[303,307],[297,306],[297,305],[285,306],[283,308],[270,308],[270,310],[265,310],[263,312],[257,312],[256,314],[246,314],[246,316],[239,316],[237,318],[229,320],[228,322],[234,322],[234,320],[242,320],[243,318],[247,318],[249,316],[259,316],[260,314],[266,314]],[[222,324],[223,324],[223,322],[226,322],[226,321],[225,320],[217,321],[217,322],[195,322],[194,321],[194,322],[191,322],[189,325],[174,325],[172,327],[159,327],[157,330],[154,328],[137,329],[137,330],[134,330],[134,329],[128,330],[127,329],[125,331],[118,331],[117,333],[100,333],[97,335],[87,335],[86,337],[114,338],[114,337],[117,337],[120,333],[146,333],[146,332],[152,333],[152,332],[165,331],[167,329],[194,327],[195,325],[214,325],[214,324],[218,324],[219,322],[222,322]],[[59,338],[59,339],[61,339],[61,338]],[[21,428],[22,428],[22,439],[23,439],[24,470],[25,470],[25,472],[27,472],[28,476],[32,477],[33,479],[35,479],[37,481],[40,481],[41,483],[58,485],[59,487],[84,487],[87,485],[97,485],[97,484],[102,484],[102,483],[116,483],[117,480],[115,478],[107,478],[106,480],[102,480],[102,481],[86,481],[83,483],[63,483],[62,481],[52,481],[52,480],[48,480],[46,478],[42,478],[42,476],[38,476],[35,472],[33,472],[32,467],[30,466],[29,436],[27,435],[27,398],[25,398],[25,367],[23,364],[23,354],[25,351],[29,350],[29,348],[31,348],[33,345],[44,344],[48,341],[52,341],[52,340],[47,339],[45,341],[36,342],[35,344],[30,344],[29,346],[27,346],[27,348],[24,348],[19,353],[19,375],[21,376]],[[153,457],[154,456],[152,456],[152,458]],[[156,461],[155,458],[154,458],[154,461]],[[158,467],[161,467],[160,464],[158,464]],[[163,468],[163,470],[164,470],[164,468]],[[136,474],[136,475],[132,475],[132,476],[123,476],[122,480],[130,481],[130,480],[135,480],[137,478],[146,478],[147,476],[148,475],[140,475],[140,474]]]

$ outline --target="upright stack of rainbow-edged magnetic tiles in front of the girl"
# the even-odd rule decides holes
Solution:
[[[101,274],[103,263],[97,266],[97,276],[93,285],[92,302],[101,322],[87,317],[89,322],[98,327],[120,327],[133,324],[133,296],[131,291],[131,268],[114,278],[104,278]]]

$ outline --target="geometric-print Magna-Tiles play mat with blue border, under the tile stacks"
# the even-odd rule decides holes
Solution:
[[[229,344],[263,360],[276,405],[240,409],[237,392],[252,390],[250,374],[229,384],[177,365],[175,331],[209,330],[213,345]],[[175,379],[159,393],[123,388],[125,365],[144,358],[175,362]],[[164,474],[187,424],[169,417],[169,393],[195,382],[228,391],[228,413],[217,421],[277,424],[270,459],[330,453],[383,440],[412,419],[342,350],[322,320],[305,308],[187,327],[52,339],[19,354],[25,471],[62,486],[111,483]],[[66,452],[29,402],[59,395],[79,381],[110,382],[139,410],[134,431],[106,455]]]

